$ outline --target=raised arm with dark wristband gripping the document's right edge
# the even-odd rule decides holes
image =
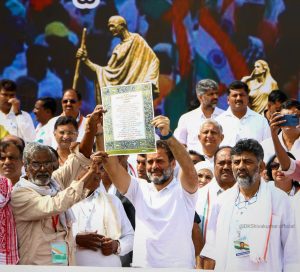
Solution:
[[[169,118],[160,115],[155,117],[151,123],[160,130],[162,139],[167,138],[168,146],[181,167],[180,181],[182,187],[191,194],[195,193],[198,188],[198,179],[194,164],[184,146],[173,135],[171,136]]]

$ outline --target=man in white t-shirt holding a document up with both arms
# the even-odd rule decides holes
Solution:
[[[157,141],[157,153],[147,154],[151,183],[130,176],[113,156],[102,158],[104,168],[136,209],[133,266],[193,268],[197,174],[184,146],[172,136],[170,120],[157,116],[152,125],[163,141]],[[180,180],[174,177],[175,160],[181,167]]]

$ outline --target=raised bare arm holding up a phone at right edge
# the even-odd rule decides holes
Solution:
[[[278,138],[280,124],[286,122],[285,120],[282,120],[282,117],[283,115],[274,113],[270,119],[270,128],[276,156],[281,165],[281,169],[286,171],[290,168],[291,160]]]

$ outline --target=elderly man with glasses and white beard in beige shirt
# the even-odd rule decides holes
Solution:
[[[19,264],[74,265],[75,243],[69,209],[99,177],[97,164],[64,190],[51,178],[54,154],[48,146],[29,143],[23,154],[26,176],[15,185],[11,206],[19,244]]]

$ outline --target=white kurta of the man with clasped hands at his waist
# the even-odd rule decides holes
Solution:
[[[97,189],[92,195],[77,203],[72,207],[76,222],[73,224],[73,234],[76,237],[80,232],[95,232],[101,234],[102,223],[100,218],[103,216],[103,207],[98,204],[97,197],[100,189]],[[121,201],[114,195],[110,195],[112,204],[118,213],[118,221],[121,226],[121,237],[118,239],[120,242],[120,256],[130,252],[133,247],[134,231],[127,218]],[[104,256],[101,250],[93,251],[77,247],[76,250],[76,263],[82,266],[102,266],[102,267],[120,267],[122,266],[120,257],[112,254]]]

